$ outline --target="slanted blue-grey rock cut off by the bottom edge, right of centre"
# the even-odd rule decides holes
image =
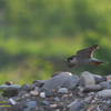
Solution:
[[[84,107],[85,107],[85,103],[84,103],[84,101],[82,100],[82,101],[75,103],[74,105],[72,105],[72,107],[69,109],[69,111],[80,111],[80,110],[83,110]]]

